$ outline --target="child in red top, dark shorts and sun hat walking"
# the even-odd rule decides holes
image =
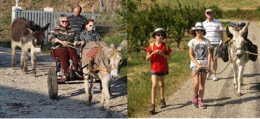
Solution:
[[[165,42],[162,41],[166,37],[166,32],[162,28],[157,28],[152,33],[152,37],[155,38],[156,41],[151,43],[152,46],[147,46],[147,55],[145,58],[146,60],[150,60],[151,63],[151,106],[148,109],[148,112],[150,113],[155,112],[155,96],[158,77],[160,77],[160,108],[166,106],[164,99],[164,79],[165,74],[168,74],[167,60],[171,59],[171,48],[168,45],[165,45]],[[165,46],[167,46],[167,48]]]

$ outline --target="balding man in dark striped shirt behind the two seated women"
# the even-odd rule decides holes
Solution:
[[[75,30],[76,33],[76,38],[79,39],[79,34],[82,30],[85,29],[85,21],[86,21],[86,17],[80,15],[81,13],[81,6],[80,5],[76,5],[73,8],[73,13],[74,15],[71,15],[68,17],[69,20],[69,26]]]

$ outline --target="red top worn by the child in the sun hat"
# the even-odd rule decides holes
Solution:
[[[164,42],[161,42],[161,44],[159,46],[156,46],[156,44],[153,43],[153,51],[156,50],[156,49],[161,50],[164,54],[166,54]],[[146,51],[148,53],[152,52],[151,49],[150,49],[150,45],[147,46]],[[171,48],[168,46],[167,54],[170,54],[170,52],[171,52]],[[167,59],[164,58],[160,54],[156,54],[156,53],[152,54],[151,59],[150,59],[150,63],[151,63],[151,71],[155,71],[157,73],[168,71]]]

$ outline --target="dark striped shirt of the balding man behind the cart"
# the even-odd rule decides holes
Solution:
[[[86,17],[79,15],[75,17],[74,15],[68,16],[69,26],[75,30],[76,37],[79,39],[79,34],[85,29]]]

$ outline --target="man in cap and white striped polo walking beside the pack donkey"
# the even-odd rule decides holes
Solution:
[[[219,45],[223,42],[223,27],[221,22],[218,19],[215,19],[213,17],[213,11],[212,9],[206,9],[205,15],[207,19],[202,22],[206,34],[205,38],[209,39],[212,47],[210,48],[211,51],[211,59],[213,61],[213,68],[212,71],[209,71],[207,74],[207,78],[211,73],[213,72],[212,80],[216,81],[218,78],[216,77],[216,69],[217,69],[217,58],[219,58],[220,55],[220,48]],[[220,38],[219,38],[220,36]]]

